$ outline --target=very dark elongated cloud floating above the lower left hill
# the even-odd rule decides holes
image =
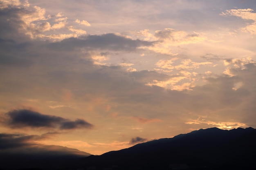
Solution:
[[[5,113],[7,117],[7,126],[11,128],[60,128],[61,130],[76,129],[76,128],[92,128],[93,125],[83,119],[71,121],[63,117],[43,115],[41,113],[20,109],[12,110]]]

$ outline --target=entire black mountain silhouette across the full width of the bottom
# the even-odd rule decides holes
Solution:
[[[66,157],[65,154],[55,154],[53,159],[51,157],[37,159],[38,166],[29,168],[59,170],[255,169],[255,144],[256,129],[254,128],[233,130],[208,128],[180,134],[173,138],[148,141],[99,156],[89,154],[90,156],[86,155],[88,157],[82,157],[82,155],[74,157],[72,152],[71,156],[67,156],[69,152],[65,152]],[[17,161],[17,158],[11,155],[8,160],[12,163]],[[53,166],[40,166],[42,162]],[[1,160],[0,168],[7,170],[5,167],[7,166],[2,166]]]

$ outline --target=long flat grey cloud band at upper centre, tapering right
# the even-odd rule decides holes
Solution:
[[[132,40],[113,33],[68,38],[49,46],[54,49],[70,50],[74,48],[101,49],[112,51],[135,51],[140,46],[151,46],[154,42]]]

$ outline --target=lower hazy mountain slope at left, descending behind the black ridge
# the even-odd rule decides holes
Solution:
[[[91,154],[54,145],[23,146],[0,150],[0,169],[58,169],[74,165],[74,161]]]

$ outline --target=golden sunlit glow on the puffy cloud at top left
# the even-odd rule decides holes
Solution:
[[[86,34],[86,31],[83,29],[78,29],[68,24],[67,17],[65,17],[65,15],[62,13],[58,13],[55,16],[47,15],[46,9],[38,6],[31,8],[29,7],[28,1],[25,1],[25,4],[21,4],[19,0],[4,0],[2,1],[2,4],[4,5],[2,8],[14,6],[19,9],[18,11],[15,11],[15,13],[17,13],[17,16],[20,17],[20,20],[24,22],[21,25],[19,31],[25,32],[25,34],[29,35],[31,39],[49,38],[52,40],[63,40],[65,38],[77,37],[78,35]],[[21,9],[21,7],[24,9]],[[56,19],[52,20],[52,17],[55,17]],[[80,23],[86,24],[84,20]],[[63,32],[54,34],[54,32],[60,29],[65,29],[65,33]],[[76,34],[70,34],[68,33],[69,31]]]

